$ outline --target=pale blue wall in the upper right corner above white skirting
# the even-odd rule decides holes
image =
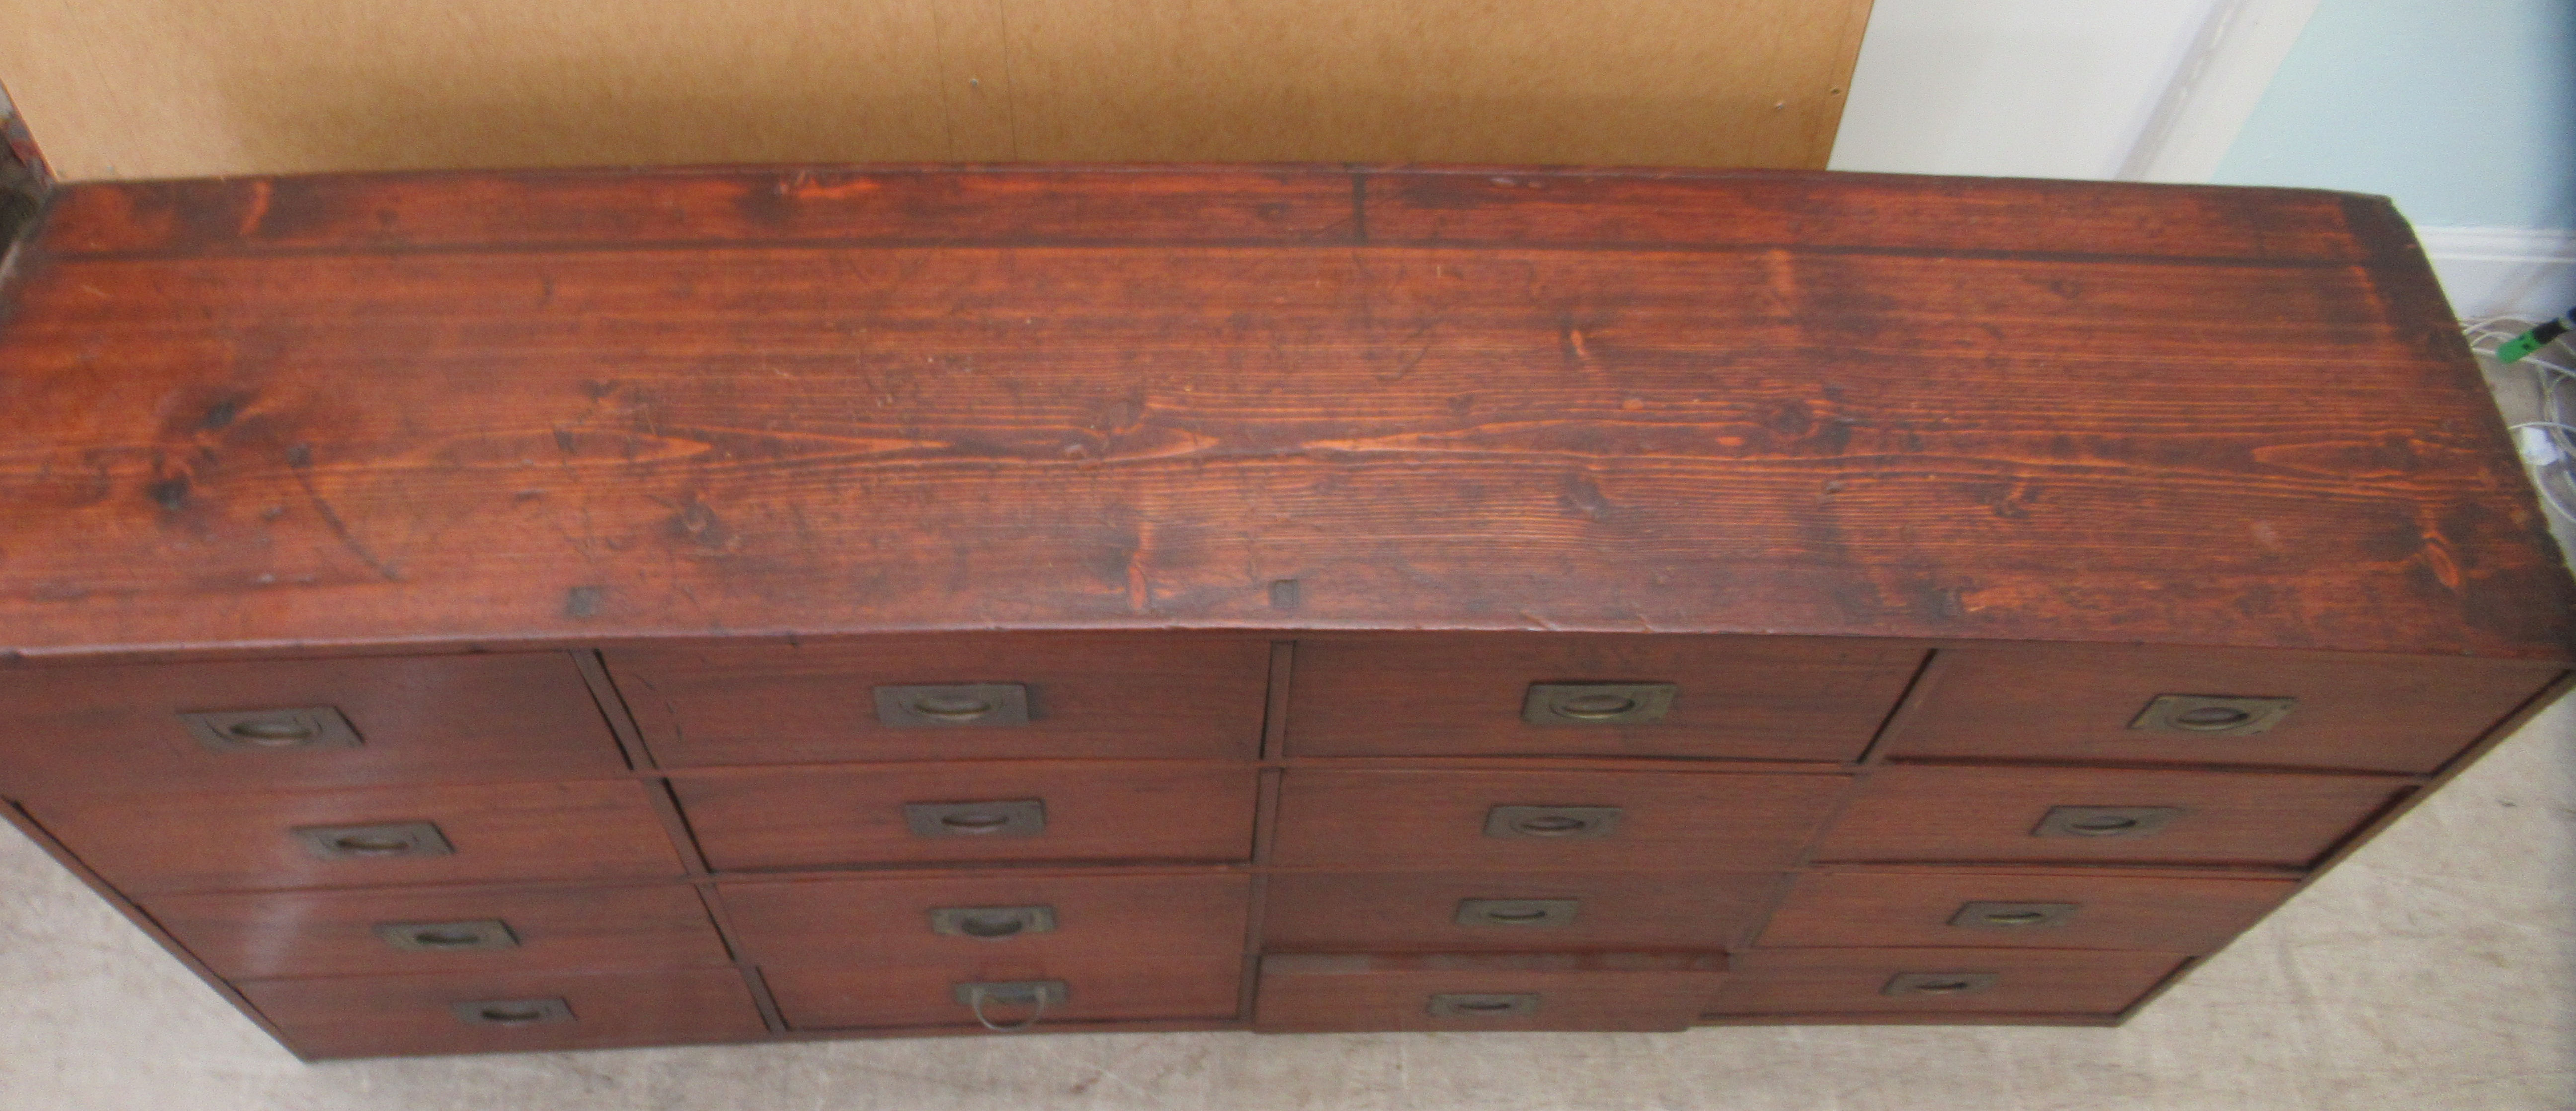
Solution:
[[[2576,227],[2576,0],[2321,0],[2215,180]]]

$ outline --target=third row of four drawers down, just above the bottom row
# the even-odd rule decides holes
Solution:
[[[1783,900],[1777,874],[1273,874],[1262,951],[1726,951]],[[2136,949],[2208,954],[2287,879],[1814,871],[1757,949]],[[979,874],[714,884],[732,951],[688,884],[407,887],[142,900],[227,980],[389,972],[634,972],[734,956],[945,967],[1015,980],[1072,964],[1239,959],[1244,874]]]

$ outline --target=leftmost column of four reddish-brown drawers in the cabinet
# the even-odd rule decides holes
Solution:
[[[572,655],[0,673],[0,794],[307,1057],[768,1031]]]

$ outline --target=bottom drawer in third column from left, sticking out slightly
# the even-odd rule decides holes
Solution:
[[[1723,982],[1718,954],[1262,956],[1252,1029],[1677,1031]]]

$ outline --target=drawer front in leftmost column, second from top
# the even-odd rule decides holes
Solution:
[[[629,778],[379,786],[80,799],[28,812],[126,894],[680,876],[680,853],[644,791]],[[325,856],[319,840],[330,838],[366,851]]]

